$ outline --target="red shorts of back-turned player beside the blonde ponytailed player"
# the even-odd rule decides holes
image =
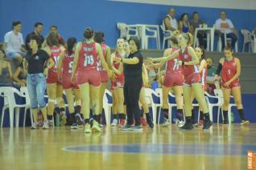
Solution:
[[[163,86],[165,87],[174,87],[182,86],[184,83],[184,75],[181,73],[170,73],[166,72],[163,79]]]

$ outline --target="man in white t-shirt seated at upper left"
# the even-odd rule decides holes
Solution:
[[[23,46],[23,34],[20,32],[22,23],[20,21],[14,21],[12,26],[13,30],[7,32],[4,37],[6,56],[10,59],[17,59],[18,63],[22,63],[23,57],[27,52]]]

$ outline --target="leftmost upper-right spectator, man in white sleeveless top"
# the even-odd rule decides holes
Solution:
[[[163,18],[163,22],[165,25],[165,29],[166,30],[177,30],[178,29],[178,22],[175,19],[175,9],[171,8],[169,10],[169,14],[167,14],[164,18]]]

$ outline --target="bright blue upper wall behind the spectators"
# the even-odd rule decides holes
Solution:
[[[209,4],[209,6],[211,6]],[[0,42],[4,34],[10,30],[11,22],[23,22],[23,36],[31,32],[37,21],[44,23],[43,35],[47,34],[49,26],[59,27],[60,34],[67,39],[69,36],[82,38],[85,26],[105,32],[106,42],[114,47],[118,38],[117,22],[160,24],[170,6],[150,5],[140,3],[109,2],[106,0],[0,0]],[[201,18],[213,25],[221,9],[174,6],[176,18],[187,12],[192,14],[197,10]],[[228,18],[233,21],[238,30],[252,30],[256,26],[256,10],[225,10]],[[242,49],[242,36],[239,39]]]

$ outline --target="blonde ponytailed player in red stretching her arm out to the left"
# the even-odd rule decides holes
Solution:
[[[180,50],[173,52],[171,55],[167,56],[167,59],[175,59],[179,57],[179,64],[182,66],[182,72],[184,75],[184,110],[186,115],[186,123],[181,129],[192,129],[192,102],[191,102],[191,93],[195,94],[196,100],[199,103],[199,106],[204,112],[204,127],[203,129],[209,129],[213,125],[213,122],[209,119],[209,109],[207,103],[204,100],[202,86],[200,84],[200,75],[198,67],[196,64],[199,64],[200,61],[196,56],[196,52],[189,44],[192,44],[192,34],[183,33],[178,37],[178,42]]]

